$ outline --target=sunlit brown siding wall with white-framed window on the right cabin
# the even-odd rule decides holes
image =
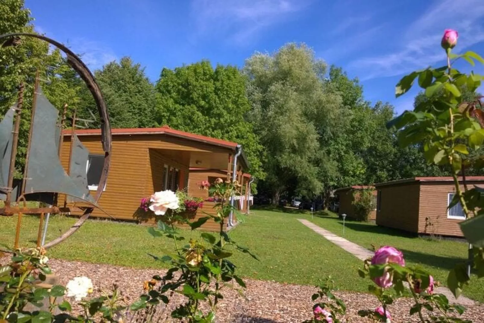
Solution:
[[[468,185],[482,185],[469,182]],[[461,185],[461,189],[464,187]],[[460,219],[447,218],[448,194],[455,193],[453,183],[422,182],[420,185],[419,233],[462,237]]]

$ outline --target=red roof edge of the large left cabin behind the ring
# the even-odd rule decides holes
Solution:
[[[71,129],[66,129],[63,135],[70,135],[72,133]],[[158,128],[115,128],[111,129],[111,134],[114,135],[148,135],[148,134],[165,134],[169,136],[192,139],[200,142],[205,142],[217,146],[223,146],[228,148],[236,148],[237,143],[217,138],[211,138],[207,136],[201,136],[197,134],[192,134],[190,132],[184,132],[180,130],[171,129],[169,126],[164,125]],[[101,129],[80,129],[76,130],[77,136],[99,136],[101,135]]]

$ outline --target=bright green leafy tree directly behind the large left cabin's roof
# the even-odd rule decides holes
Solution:
[[[172,128],[242,145],[251,174],[263,178],[263,150],[251,123],[245,120],[251,106],[245,94],[246,78],[234,66],[208,61],[164,68],[156,84],[157,122]]]

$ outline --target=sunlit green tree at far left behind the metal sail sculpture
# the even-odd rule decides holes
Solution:
[[[4,0],[0,2],[0,34],[10,32],[33,32],[30,24],[30,11],[24,7],[23,0]],[[49,52],[49,46],[44,41],[21,37],[15,41],[15,46],[0,47],[0,115],[3,117],[7,109],[18,96],[18,86],[25,83],[24,106],[21,113],[18,151],[15,168],[16,177],[20,177],[24,165],[30,128],[31,103],[35,74],[38,71],[40,85],[47,98],[58,108],[64,103],[78,101],[77,90],[64,83],[63,75],[75,75],[66,64],[59,50]]]

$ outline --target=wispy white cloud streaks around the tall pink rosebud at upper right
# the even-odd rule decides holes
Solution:
[[[446,28],[459,31],[459,50],[484,41],[484,1],[445,0],[421,15],[404,31],[394,52],[365,57],[348,67],[358,71],[362,79],[397,76],[444,59],[439,47]]]

